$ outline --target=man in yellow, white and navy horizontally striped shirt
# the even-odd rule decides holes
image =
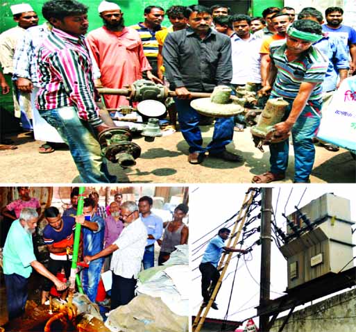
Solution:
[[[144,55],[152,67],[152,74],[158,76],[158,42],[155,33],[165,29],[161,26],[164,19],[164,9],[160,6],[147,6],[144,8],[144,22],[139,22],[130,28],[134,28],[139,33],[144,47]]]

